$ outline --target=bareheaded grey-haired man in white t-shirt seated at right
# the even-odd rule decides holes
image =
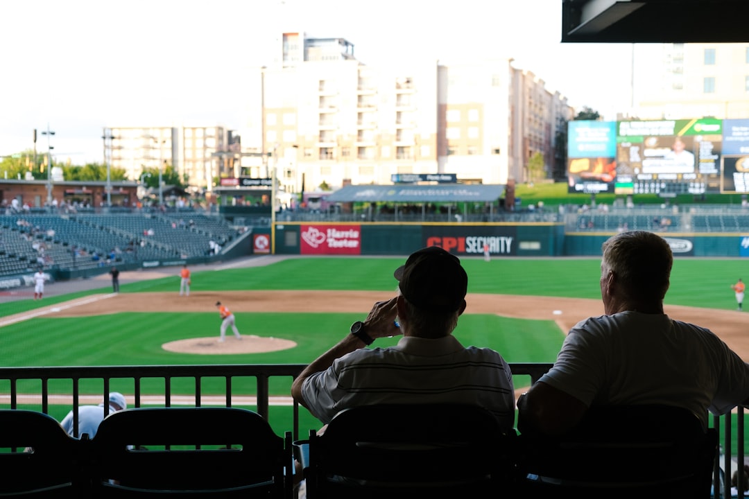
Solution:
[[[749,403],[749,365],[709,329],[664,313],[672,265],[655,233],[604,242],[605,315],[571,328],[554,367],[518,399],[521,432],[562,435],[592,405],[675,405],[707,427],[708,411]]]

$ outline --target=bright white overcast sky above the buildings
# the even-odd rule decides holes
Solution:
[[[270,64],[282,31],[344,37],[357,59],[512,57],[575,108],[631,102],[629,44],[562,44],[562,0],[9,0],[0,3],[0,155],[55,132],[56,159],[102,162],[104,126],[241,128],[231,68]],[[223,87],[227,85],[227,87]],[[194,96],[201,96],[195,100]],[[39,135],[37,150],[46,150]]]

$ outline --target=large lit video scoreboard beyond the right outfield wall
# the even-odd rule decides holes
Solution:
[[[749,192],[749,120],[568,123],[568,192]]]

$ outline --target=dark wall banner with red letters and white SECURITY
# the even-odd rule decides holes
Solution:
[[[472,227],[436,225],[422,229],[425,246],[439,246],[458,257],[478,257],[484,254],[484,245],[494,256],[518,254],[516,227]]]

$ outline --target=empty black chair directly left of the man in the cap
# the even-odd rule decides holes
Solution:
[[[91,441],[94,497],[291,497],[291,432],[241,408],[133,408]]]

